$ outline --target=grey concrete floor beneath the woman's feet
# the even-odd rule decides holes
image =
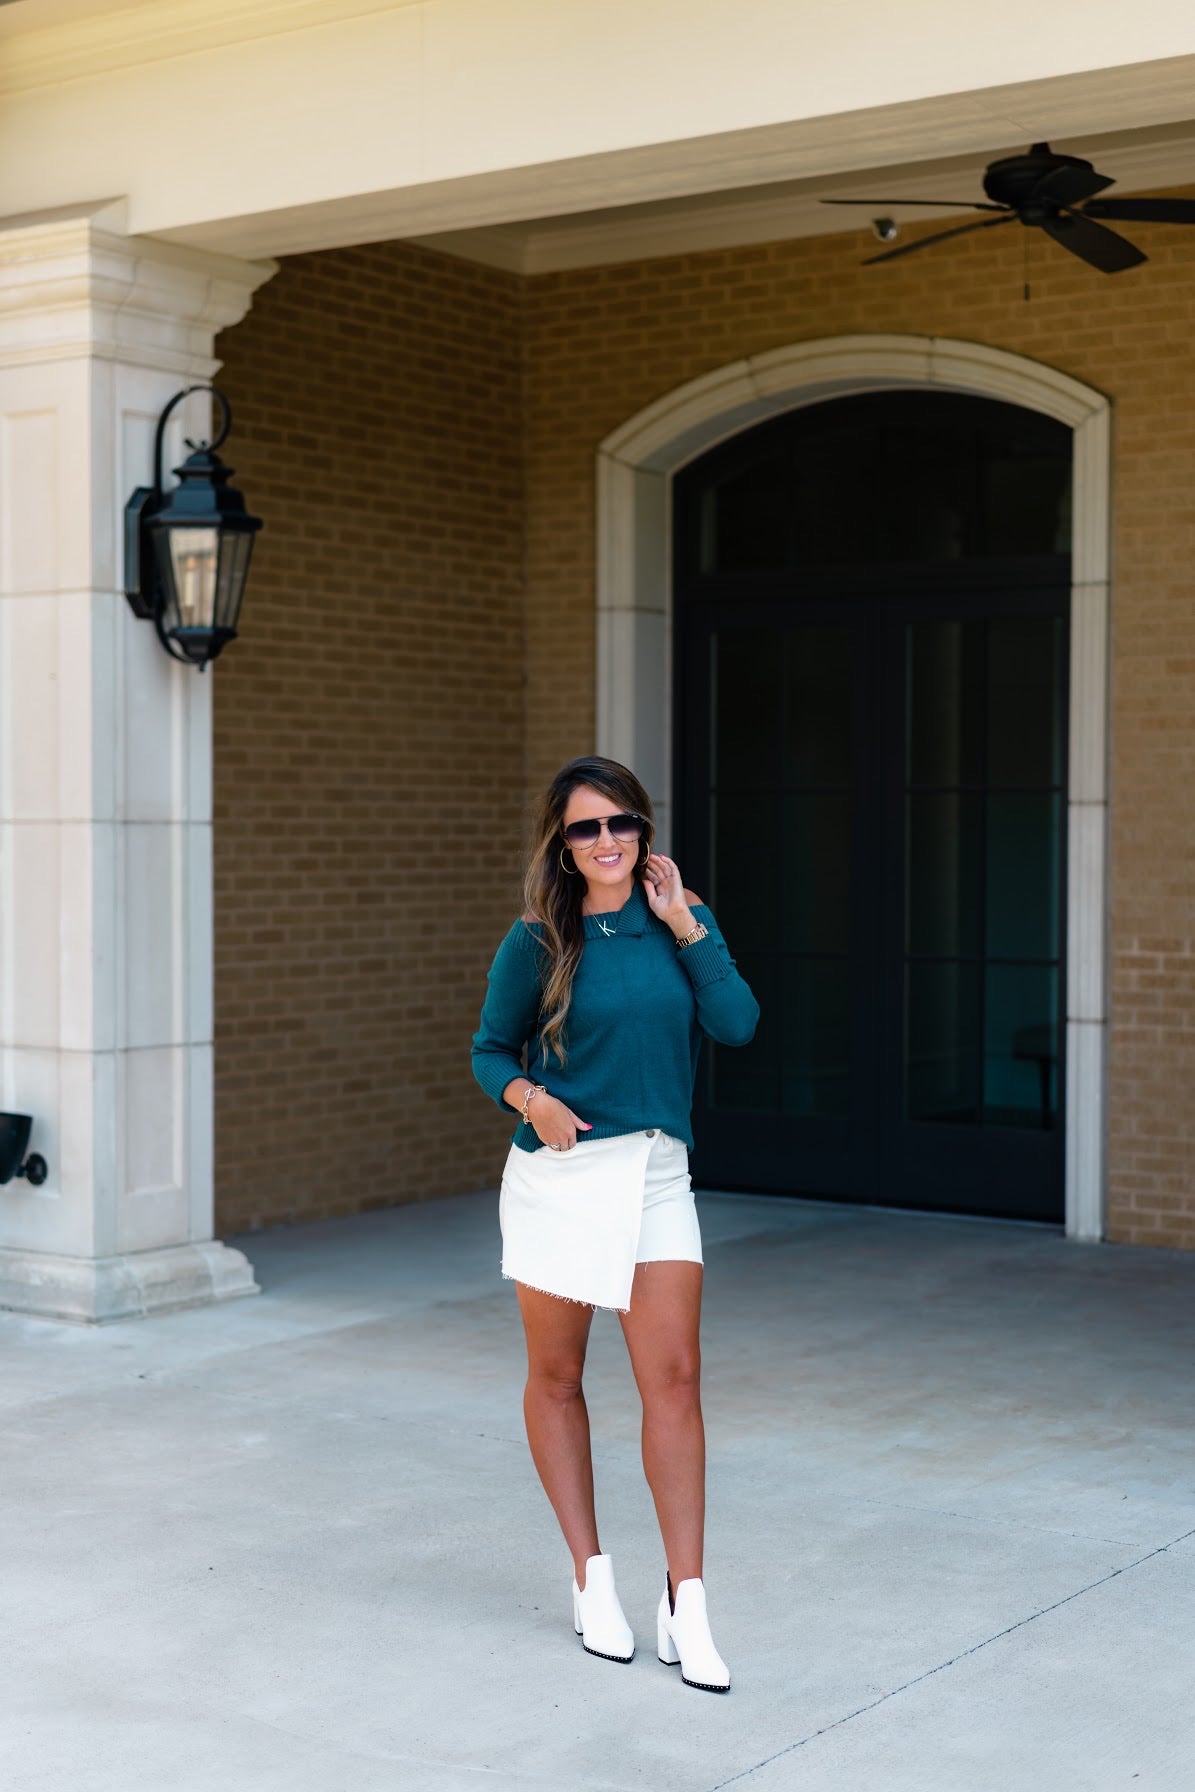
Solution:
[[[1195,1254],[706,1197],[715,1634],[589,1367],[631,1667],[572,1634],[491,1199],[238,1240],[260,1297],[0,1315],[5,1792],[1190,1792]]]

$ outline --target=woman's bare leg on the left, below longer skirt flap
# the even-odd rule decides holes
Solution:
[[[593,1514],[589,1414],[580,1391],[593,1308],[516,1283],[527,1333],[527,1443],[584,1591],[586,1563],[600,1555]]]

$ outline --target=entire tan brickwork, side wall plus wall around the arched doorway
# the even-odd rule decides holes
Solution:
[[[860,233],[529,281],[337,251],[285,263],[222,339],[269,516],[215,674],[226,1229],[494,1179],[505,1129],[462,1045],[516,901],[520,776],[593,745],[595,448],[740,355],[912,332],[1114,401],[1111,1236],[1195,1247],[1191,242],[1143,229],[1148,265],[1107,278],[1028,237],[1025,303],[1012,235],[887,269],[858,267]],[[505,831],[462,857],[477,806]]]

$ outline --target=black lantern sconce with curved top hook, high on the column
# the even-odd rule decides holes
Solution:
[[[193,443],[174,471],[172,491],[161,482],[161,441],[167,418],[192,392],[219,400],[224,425],[213,443]],[[217,448],[228,437],[233,412],[215,385],[188,385],[158,418],[154,484],[138,486],[124,511],[125,597],[133,615],[158,629],[172,659],[202,668],[228,642],[236,640],[236,616],[245,591],[253,538],[260,516],[229,486],[233,468]]]

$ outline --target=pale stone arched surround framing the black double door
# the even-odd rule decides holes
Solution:
[[[597,464],[597,747],[632,763],[668,839],[672,475],[783,410],[885,387],[1041,410],[1073,432],[1066,909],[1066,1233],[1104,1236],[1107,1140],[1107,642],[1111,405],[1055,367],[982,342],[849,335],[717,367],[616,428]],[[663,701],[661,701],[663,699]]]

